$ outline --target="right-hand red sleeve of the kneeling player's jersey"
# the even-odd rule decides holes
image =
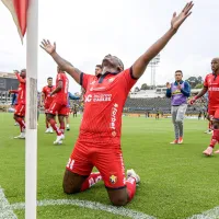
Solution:
[[[120,78],[120,83],[123,83],[125,87],[126,93],[130,91],[130,89],[138,80],[132,74],[132,67],[120,72],[119,78]]]

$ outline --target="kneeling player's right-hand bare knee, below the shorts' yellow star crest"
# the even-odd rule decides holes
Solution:
[[[108,197],[114,206],[125,206],[128,203],[128,193],[126,187],[120,189],[107,188]]]

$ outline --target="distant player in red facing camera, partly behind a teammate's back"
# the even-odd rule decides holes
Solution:
[[[49,106],[54,100],[54,96],[51,96],[50,93],[56,89],[56,87],[53,85],[51,77],[47,78],[47,83],[48,83],[48,85],[44,87],[42,90],[42,102],[43,102],[43,105],[45,108],[45,114],[48,113]],[[46,134],[54,132],[53,127],[51,126],[49,127],[47,118],[46,118],[46,131],[45,132]]]

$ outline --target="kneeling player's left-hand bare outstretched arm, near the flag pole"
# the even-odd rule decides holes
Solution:
[[[41,47],[54,58],[62,71],[69,73],[76,80],[76,82],[80,83],[81,71],[56,53],[56,43],[51,45],[48,39],[44,39],[41,44]]]

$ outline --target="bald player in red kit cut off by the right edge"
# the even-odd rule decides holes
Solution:
[[[203,90],[189,101],[193,104],[208,91],[208,115],[212,123],[212,137],[208,148],[203,151],[206,155],[211,155],[216,143],[219,142],[219,58],[212,59],[211,69],[212,73],[206,76]],[[219,150],[215,153],[219,153]]]

